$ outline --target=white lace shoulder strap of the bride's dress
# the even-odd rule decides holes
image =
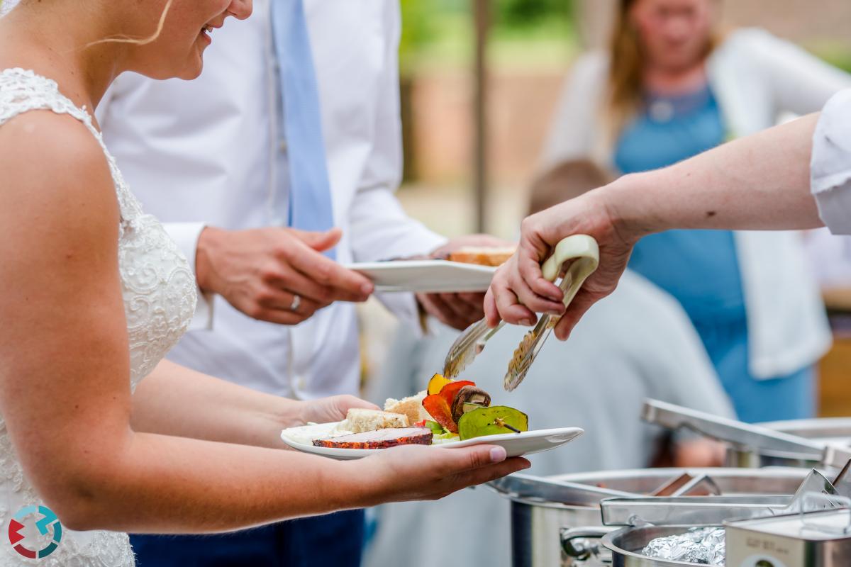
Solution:
[[[92,116],[86,108],[74,105],[71,99],[60,93],[59,85],[55,81],[37,75],[34,71],[19,68],[0,71],[0,126],[9,122],[14,116],[29,111],[53,111],[56,114],[67,114],[83,122],[106,156],[121,209],[122,224],[142,214],[139,201],[127,189],[115,158],[106,149],[103,137],[98,129],[94,128]]]

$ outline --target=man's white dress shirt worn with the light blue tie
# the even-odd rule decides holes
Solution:
[[[245,22],[216,30],[191,82],[118,77],[98,108],[106,145],[146,211],[194,265],[205,225],[282,225],[288,200],[286,140],[269,0]],[[429,252],[444,239],[408,218],[394,196],[401,178],[396,0],[306,0],[341,263]],[[272,394],[312,399],[357,393],[357,321],[335,303],[299,326],[252,320],[206,298],[195,328],[169,358]],[[416,320],[413,296],[383,298]],[[212,332],[204,330],[212,327]]]

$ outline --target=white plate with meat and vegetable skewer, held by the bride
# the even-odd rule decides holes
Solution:
[[[364,456],[374,455],[380,451],[386,451],[386,449],[333,449],[330,447],[317,447],[311,443],[310,439],[323,438],[335,425],[337,423],[319,423],[300,428],[284,429],[281,432],[281,439],[283,439],[284,443],[298,451],[313,453],[314,455],[330,456],[340,461],[359,459]],[[565,443],[569,443],[583,433],[585,433],[585,430],[580,428],[538,429],[535,431],[524,431],[520,434],[486,435],[484,437],[477,437],[476,439],[453,441],[451,443],[431,446],[469,447],[470,445],[502,445],[505,447],[505,452],[508,453],[508,456],[521,456],[555,449]]]

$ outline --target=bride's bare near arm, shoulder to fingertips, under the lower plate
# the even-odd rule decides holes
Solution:
[[[235,530],[436,498],[528,466],[488,445],[335,462],[135,432],[119,213],[100,147],[71,118],[31,112],[0,128],[0,148],[0,411],[66,527]]]

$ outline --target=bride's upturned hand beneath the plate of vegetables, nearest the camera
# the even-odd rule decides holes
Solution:
[[[463,448],[404,445],[346,464],[357,467],[351,478],[366,496],[364,506],[437,500],[530,466],[522,457],[506,459],[505,449],[497,445]]]

